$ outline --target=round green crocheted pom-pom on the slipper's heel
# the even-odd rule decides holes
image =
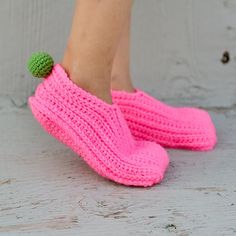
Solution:
[[[47,77],[53,68],[53,58],[45,52],[34,53],[28,61],[28,70],[37,78]]]

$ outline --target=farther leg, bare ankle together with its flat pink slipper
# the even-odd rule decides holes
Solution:
[[[212,149],[217,137],[209,114],[196,108],[170,107],[143,91],[135,92],[129,68],[130,18],[115,55],[111,87],[113,102],[120,106],[131,132],[137,139],[166,147]]]

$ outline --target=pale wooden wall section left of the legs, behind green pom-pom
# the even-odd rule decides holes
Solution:
[[[70,30],[74,1],[2,0],[0,8],[0,96],[24,106],[39,80],[30,77],[31,53],[47,51],[58,61]]]

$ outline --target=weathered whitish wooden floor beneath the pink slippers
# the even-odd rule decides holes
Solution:
[[[107,181],[23,108],[0,110],[0,235],[236,235],[236,112],[212,152],[169,150],[161,185]]]

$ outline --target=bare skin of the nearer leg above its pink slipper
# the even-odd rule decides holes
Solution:
[[[126,50],[124,45],[127,47],[124,29],[127,28],[131,8],[132,0],[77,0],[61,62],[75,84],[109,104],[112,104],[112,68],[113,77],[116,74],[118,78],[123,64],[127,66],[122,62],[122,54]]]

